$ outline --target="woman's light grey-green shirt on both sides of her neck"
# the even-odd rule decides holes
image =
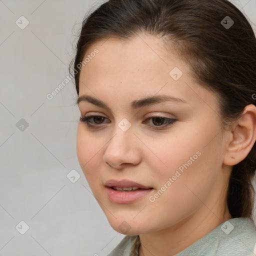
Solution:
[[[139,235],[125,235],[107,256],[138,256]],[[175,256],[256,256],[256,229],[250,218],[229,219]]]

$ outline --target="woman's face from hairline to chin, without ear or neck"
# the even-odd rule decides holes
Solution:
[[[175,51],[154,36],[109,38],[85,55],[79,97],[109,108],[80,98],[81,116],[96,117],[88,120],[92,126],[78,124],[77,156],[110,225],[141,234],[222,212],[229,173],[216,95],[196,84]],[[170,99],[132,104],[163,95]],[[115,191],[106,188],[109,179],[151,189]]]

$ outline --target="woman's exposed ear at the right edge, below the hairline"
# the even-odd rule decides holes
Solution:
[[[256,140],[256,106],[247,105],[233,124],[223,158],[223,164],[235,165],[249,153]]]

